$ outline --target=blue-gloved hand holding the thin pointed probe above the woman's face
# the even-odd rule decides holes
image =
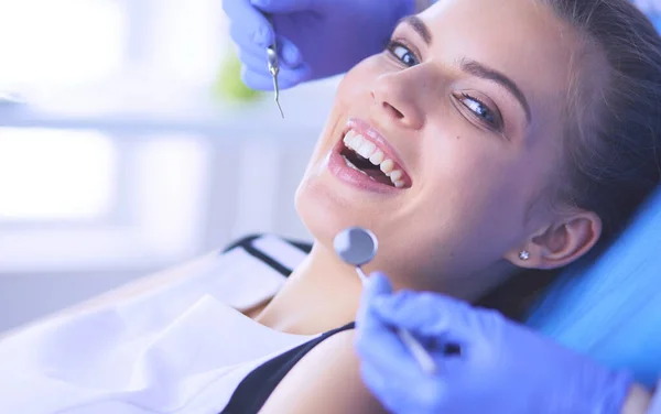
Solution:
[[[239,46],[243,83],[273,87],[266,48],[278,34],[280,87],[344,73],[382,51],[414,0],[224,0],[230,35]]]

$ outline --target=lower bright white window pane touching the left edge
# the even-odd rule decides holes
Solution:
[[[107,215],[116,157],[112,141],[93,131],[0,129],[0,220]]]

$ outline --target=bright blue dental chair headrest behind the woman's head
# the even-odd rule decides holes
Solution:
[[[527,323],[653,386],[661,378],[661,188],[596,263],[562,274]]]

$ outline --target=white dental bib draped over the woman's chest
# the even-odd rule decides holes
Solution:
[[[305,252],[253,240],[279,265]],[[237,247],[134,298],[57,317],[0,342],[0,413],[214,414],[254,368],[316,336],[264,327],[240,313],[285,281]]]

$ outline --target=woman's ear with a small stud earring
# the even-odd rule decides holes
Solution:
[[[506,259],[524,269],[557,269],[587,253],[600,236],[599,217],[593,211],[577,211],[541,229]]]

